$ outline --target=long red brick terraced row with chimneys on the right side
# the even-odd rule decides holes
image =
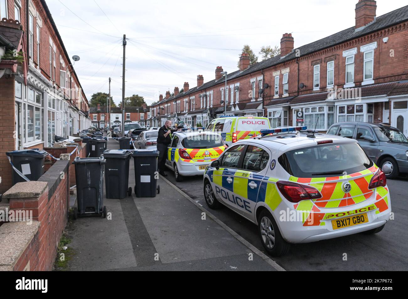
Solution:
[[[272,127],[304,125],[327,131],[339,121],[391,123],[408,135],[408,6],[376,17],[376,1],[359,0],[355,26],[294,48],[285,33],[281,54],[250,66],[243,53],[239,70],[184,92],[174,89],[151,107],[151,121],[177,117],[188,125],[207,125],[224,115],[266,116]]]

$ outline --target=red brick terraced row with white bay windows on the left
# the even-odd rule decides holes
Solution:
[[[5,152],[50,146],[55,135],[77,134],[91,121],[89,103],[45,1],[0,0],[0,20],[1,193],[11,187]],[[7,56],[20,51],[20,62]]]

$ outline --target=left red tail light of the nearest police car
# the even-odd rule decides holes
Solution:
[[[281,180],[278,181],[276,185],[282,195],[290,202],[299,202],[304,199],[316,199],[322,197],[322,194],[320,194],[320,192],[314,187]]]

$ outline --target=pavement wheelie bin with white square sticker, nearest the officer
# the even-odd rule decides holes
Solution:
[[[135,163],[136,197],[155,197],[160,193],[155,173],[157,171],[158,150],[134,150],[132,157]]]

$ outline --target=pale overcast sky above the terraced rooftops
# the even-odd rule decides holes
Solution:
[[[237,70],[244,44],[258,54],[261,46],[280,45],[288,32],[296,48],[354,26],[357,2],[47,0],[47,5],[69,56],[80,56],[74,68],[88,100],[108,92],[111,77],[113,100],[120,103],[126,34],[126,97],[142,95],[150,104],[185,81],[196,86],[197,75],[204,82],[214,79],[216,66]],[[377,17],[406,4],[377,0]]]

